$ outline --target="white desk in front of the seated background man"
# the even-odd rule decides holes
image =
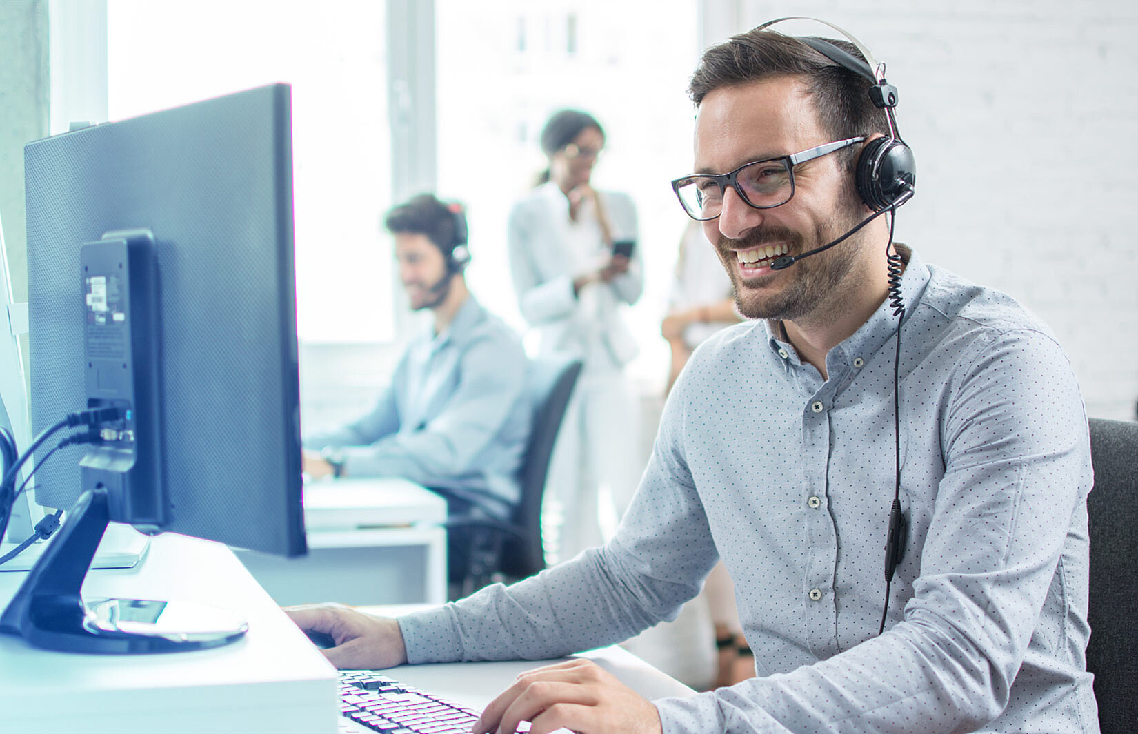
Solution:
[[[399,478],[304,487],[308,555],[238,558],[279,604],[446,601],[446,501]]]

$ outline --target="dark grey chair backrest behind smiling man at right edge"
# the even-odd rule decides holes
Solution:
[[[1138,692],[1138,423],[1090,419],[1087,669],[1103,734],[1133,731]]]

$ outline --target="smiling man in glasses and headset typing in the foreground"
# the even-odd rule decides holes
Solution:
[[[916,171],[883,67],[760,26],[691,93],[673,185],[759,321],[692,356],[616,537],[398,620],[294,619],[341,667],[549,658],[674,618],[721,558],[754,678],[649,702],[575,660],[475,732],[1097,732],[1079,387],[1019,304],[893,242]]]

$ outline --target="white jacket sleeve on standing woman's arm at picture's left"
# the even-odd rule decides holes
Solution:
[[[571,274],[543,280],[535,262],[543,250],[549,249],[539,241],[542,237],[534,222],[533,203],[516,204],[510,211],[506,230],[510,275],[521,315],[533,327],[566,319],[577,307]]]

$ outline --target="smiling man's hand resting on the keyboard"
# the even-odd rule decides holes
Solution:
[[[486,707],[473,734],[514,732],[520,721],[530,721],[530,734],[562,727],[580,734],[661,734],[655,707],[591,660],[521,674]]]

